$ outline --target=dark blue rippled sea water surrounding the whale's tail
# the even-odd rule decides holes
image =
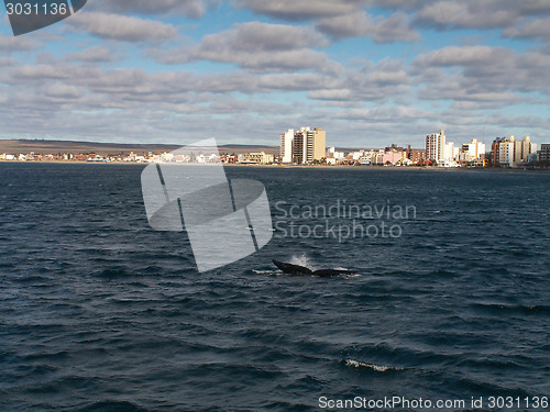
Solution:
[[[264,182],[278,231],[199,274],[185,234],[150,229],[142,169],[0,164],[1,411],[550,394],[550,175],[229,168]],[[416,214],[386,222],[398,237],[283,236],[338,200]],[[359,275],[287,276],[272,258]]]

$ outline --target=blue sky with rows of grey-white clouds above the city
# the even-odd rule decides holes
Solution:
[[[550,143],[548,0],[88,0],[14,37],[0,138]]]

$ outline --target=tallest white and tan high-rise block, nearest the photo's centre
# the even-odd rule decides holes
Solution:
[[[293,129],[280,135],[280,159],[283,163],[314,163],[326,157],[327,133],[320,129]]]

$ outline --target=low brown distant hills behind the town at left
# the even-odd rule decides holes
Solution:
[[[118,155],[134,152],[161,154],[175,151],[184,145],[166,144],[125,144],[125,143],[97,143],[75,141],[43,141],[43,140],[0,140],[0,154],[31,153],[40,155],[64,154],[64,153],[96,153],[99,155]],[[251,152],[265,152],[270,155],[278,155],[278,146],[264,145],[220,145],[220,153],[243,154]]]

